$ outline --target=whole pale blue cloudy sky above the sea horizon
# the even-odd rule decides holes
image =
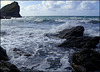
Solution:
[[[1,8],[13,1],[1,1]],[[17,1],[22,16],[99,16],[99,1]]]

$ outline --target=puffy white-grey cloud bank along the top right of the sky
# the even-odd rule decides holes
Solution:
[[[93,10],[97,2],[98,1],[42,1],[42,5],[44,9],[51,11],[57,9]]]

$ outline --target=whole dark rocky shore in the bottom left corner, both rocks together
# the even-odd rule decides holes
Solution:
[[[20,72],[20,70],[14,64],[8,62],[8,60],[6,50],[0,46],[0,72]]]

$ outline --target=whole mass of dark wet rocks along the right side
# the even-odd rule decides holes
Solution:
[[[100,53],[93,50],[97,48],[100,37],[83,36],[83,26],[65,29],[58,33],[56,37],[66,39],[59,47],[80,49],[71,57],[71,66],[76,72],[100,71]]]

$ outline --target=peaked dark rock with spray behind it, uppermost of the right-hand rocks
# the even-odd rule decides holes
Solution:
[[[83,32],[84,32],[83,26],[76,26],[71,29],[65,29],[63,31],[60,31],[57,37],[65,39],[70,36],[80,37],[83,36]]]

